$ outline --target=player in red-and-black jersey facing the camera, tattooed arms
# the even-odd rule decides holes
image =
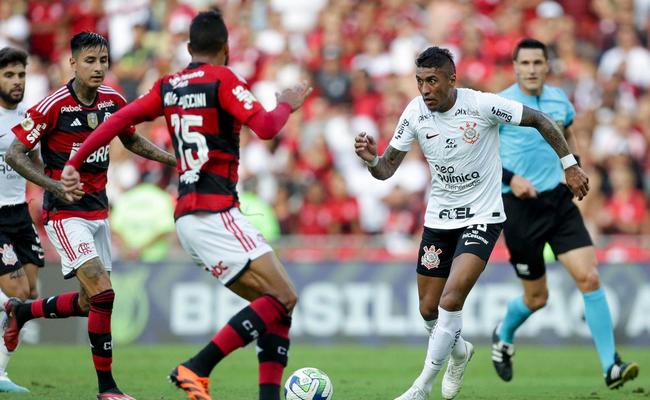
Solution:
[[[64,277],[76,277],[81,290],[29,304],[10,299],[5,305],[9,322],[4,340],[9,350],[15,348],[20,328],[33,318],[87,316],[99,384],[97,398],[131,399],[118,389],[111,372],[111,313],[115,294],[109,277],[111,243],[105,190],[108,145],[82,160],[83,191],[66,193],[59,182],[66,161],[126,101],[113,88],[102,85],[109,61],[104,37],[82,32],[72,38],[70,48],[74,78],[26,112],[25,119],[13,128],[16,139],[6,158],[20,175],[45,189],[45,230],[61,256]],[[176,165],[171,154],[135,134],[132,126],[119,133],[125,147],[134,153]],[[39,142],[45,171],[26,154]]]

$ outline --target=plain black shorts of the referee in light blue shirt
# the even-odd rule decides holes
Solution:
[[[572,199],[571,191],[563,184],[539,193],[535,199],[519,199],[512,193],[503,195],[508,217],[503,234],[519,278],[533,280],[544,276],[546,243],[556,255],[593,244]]]

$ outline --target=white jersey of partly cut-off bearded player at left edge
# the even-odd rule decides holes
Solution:
[[[25,202],[25,178],[5,161],[5,154],[16,138],[11,128],[25,118],[25,111],[20,105],[15,110],[0,107],[0,206]]]

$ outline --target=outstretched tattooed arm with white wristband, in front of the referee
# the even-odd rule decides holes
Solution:
[[[578,200],[582,200],[589,191],[589,179],[571,154],[562,128],[548,115],[526,106],[523,108],[519,125],[537,129],[544,140],[551,145],[562,161],[569,189],[578,197]]]

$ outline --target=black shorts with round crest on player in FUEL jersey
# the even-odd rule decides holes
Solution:
[[[431,229],[424,227],[417,273],[437,278],[448,278],[451,263],[463,253],[477,255],[487,262],[503,224],[469,225],[458,229]]]

